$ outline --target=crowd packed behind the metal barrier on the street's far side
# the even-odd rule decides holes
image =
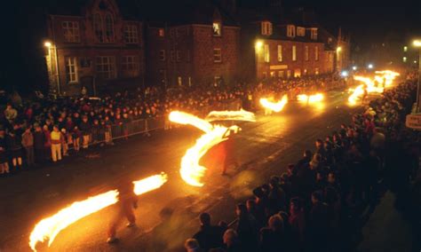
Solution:
[[[128,138],[131,122],[162,117],[171,110],[192,114],[209,112],[221,103],[239,100],[244,107],[256,109],[257,98],[266,91],[319,89],[337,77],[306,76],[266,83],[215,83],[207,86],[170,89],[157,88],[117,92],[101,98],[22,99],[14,93],[0,113],[0,175],[22,168],[61,161],[79,153],[92,143],[113,144],[113,127]],[[165,123],[165,130],[170,129]],[[70,152],[71,150],[71,152]]]

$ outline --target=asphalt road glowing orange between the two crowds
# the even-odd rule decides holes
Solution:
[[[258,122],[241,123],[242,131],[235,136],[240,167],[228,170],[226,177],[210,168],[201,188],[179,177],[181,157],[201,135],[193,127],[155,132],[149,138],[133,137],[0,178],[0,251],[30,251],[29,234],[42,218],[73,201],[113,189],[122,177],[138,180],[161,171],[169,174],[168,183],[139,197],[138,227],[128,229],[122,224],[117,244],[105,242],[107,224],[115,211],[112,206],[71,224],[51,248],[40,244],[38,250],[179,251],[198,228],[202,211],[210,212],[214,222],[234,220],[235,203],[250,197],[251,190],[271,175],[280,175],[288,163],[298,161],[303,150],[314,149],[316,138],[324,138],[342,122],[349,123],[350,114],[358,108],[348,107],[346,98],[344,93],[331,91],[318,106],[290,102],[279,114],[259,115]]]

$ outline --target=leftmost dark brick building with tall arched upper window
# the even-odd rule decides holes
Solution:
[[[61,1],[60,1],[61,2]],[[46,62],[52,91],[79,95],[140,86],[145,74],[143,26],[129,1],[60,3],[47,19]]]

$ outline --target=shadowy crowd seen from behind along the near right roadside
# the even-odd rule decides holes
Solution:
[[[235,224],[212,224],[202,213],[187,252],[353,251],[362,214],[373,212],[384,188],[406,195],[403,209],[420,209],[410,204],[419,199],[408,188],[417,177],[421,134],[404,125],[416,90],[409,75],[354,114],[351,125],[316,139],[314,151],[236,205]],[[421,224],[419,212],[413,216]]]

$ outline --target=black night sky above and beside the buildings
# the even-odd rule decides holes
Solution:
[[[46,86],[44,61],[45,14],[54,0],[10,1],[10,8],[3,8],[3,24],[8,30],[8,46],[4,47],[0,84],[3,89]],[[59,0],[57,0],[59,1]],[[73,1],[73,0],[60,0]],[[60,3],[60,1],[58,3]],[[117,0],[123,3],[124,0]],[[147,0],[138,0],[147,5]],[[159,1],[155,0],[154,2]],[[176,0],[168,0],[176,1]],[[197,0],[200,1],[200,0]],[[237,0],[239,4],[265,0]],[[151,2],[152,3],[152,2]],[[261,3],[261,2],[260,2]],[[287,9],[305,7],[314,9],[319,23],[337,34],[341,27],[351,35],[353,48],[367,51],[371,43],[382,43],[385,37],[397,37],[402,43],[410,37],[421,35],[421,1],[331,1],[284,0]]]

